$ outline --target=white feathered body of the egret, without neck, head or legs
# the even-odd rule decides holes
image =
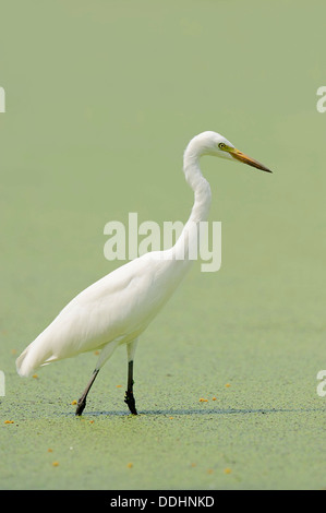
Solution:
[[[118,267],[72,299],[17,358],[19,373],[28,377],[51,361],[136,338],[181,277],[174,272],[174,281],[169,282],[170,261],[150,256],[147,253]]]

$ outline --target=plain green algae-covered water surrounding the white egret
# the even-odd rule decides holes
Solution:
[[[325,2],[0,12],[0,488],[325,489]],[[120,348],[75,418],[96,356],[29,380],[15,358],[121,264],[104,258],[107,222],[186,220],[182,153],[205,130],[274,175],[203,159],[222,266],[195,263],[142,336],[141,415],[123,403]]]

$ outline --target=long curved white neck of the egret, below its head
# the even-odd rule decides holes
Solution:
[[[180,254],[183,254],[186,261],[191,259],[190,253],[194,251],[194,248],[198,247],[200,223],[208,218],[210,206],[210,187],[200,168],[201,156],[201,148],[197,147],[196,140],[191,141],[183,156],[183,172],[186,182],[194,191],[194,204],[182,234],[172,248],[177,259],[182,260]]]

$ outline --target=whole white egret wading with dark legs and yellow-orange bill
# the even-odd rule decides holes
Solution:
[[[191,227],[208,217],[210,187],[198,164],[203,155],[236,159],[271,172],[216,132],[203,132],[193,138],[184,152],[183,171],[194,191],[194,205],[176,244],[165,251],[146,253],[83,290],[16,359],[20,375],[28,377],[40,366],[101,349],[92,378],[77,402],[76,415],[84,410],[86,396],[100,368],[122,344],[125,344],[128,353],[124,401],[130,411],[137,414],[133,395],[133,361],[138,336],[190,269],[189,248],[191,243],[198,242],[193,240],[197,238],[197,231]],[[183,259],[177,258],[181,249]]]

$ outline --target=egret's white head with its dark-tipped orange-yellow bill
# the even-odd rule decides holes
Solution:
[[[201,155],[214,155],[229,160],[238,160],[249,166],[273,172],[263,164],[237,150],[230,141],[217,132],[203,132],[196,135],[192,141],[193,150]]]

